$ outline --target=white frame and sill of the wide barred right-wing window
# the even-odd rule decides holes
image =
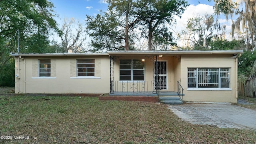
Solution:
[[[196,71],[189,71],[190,69],[196,69]],[[211,72],[210,69],[218,69],[218,87],[217,88],[199,88],[199,70],[200,69],[207,69],[207,72]],[[228,71],[224,71],[224,73],[226,73],[226,76],[223,77],[221,70],[223,69],[228,69]],[[192,76],[192,77],[189,77]],[[222,76],[221,76],[222,75]],[[194,77],[193,77],[194,76]],[[207,76],[208,77],[208,76]],[[188,87],[188,82],[191,81],[189,79],[196,79],[196,87]],[[229,86],[228,88],[222,88],[222,83],[221,80],[222,79],[228,79],[229,81]],[[207,83],[209,86],[216,84],[216,83]],[[187,90],[232,90],[230,88],[230,68],[187,68]]]

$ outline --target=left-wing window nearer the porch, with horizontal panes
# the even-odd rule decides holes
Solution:
[[[77,60],[77,76],[94,76],[94,59]]]

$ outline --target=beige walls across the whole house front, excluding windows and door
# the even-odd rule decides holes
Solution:
[[[76,77],[76,59],[95,59],[95,77]],[[25,59],[25,60],[24,60]],[[38,77],[38,59],[51,59],[51,78]],[[145,91],[153,88],[152,56],[115,56],[115,86],[122,89],[119,82],[120,59],[145,59]],[[16,56],[15,79],[16,93],[109,93],[110,92],[110,58],[109,56],[55,56],[32,57]],[[157,57],[167,61],[168,89],[161,91],[177,92],[177,81],[184,88],[184,101],[233,102],[237,96],[237,58],[232,54],[190,54],[181,56]],[[230,68],[230,90],[191,90],[187,88],[188,68]],[[25,72],[26,71],[26,72]],[[126,83],[126,85],[130,85]],[[127,87],[126,86],[126,87]],[[122,90],[120,90],[122,91]],[[140,91],[140,90],[139,90]]]

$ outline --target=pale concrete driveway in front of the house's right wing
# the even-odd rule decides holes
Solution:
[[[232,104],[169,105],[179,118],[192,124],[216,125],[219,128],[256,130],[256,111]]]

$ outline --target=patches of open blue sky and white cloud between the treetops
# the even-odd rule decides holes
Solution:
[[[214,14],[214,2],[211,0],[187,0],[188,6],[184,13],[182,14],[182,18],[176,17],[177,24],[172,26],[172,30],[174,34],[176,32],[180,32],[186,26],[186,22],[189,18],[193,18],[195,16],[204,16],[205,14]],[[100,13],[100,10],[105,12],[108,9],[108,4],[105,0],[51,0],[54,4],[54,11],[58,14],[58,18],[56,18],[59,26],[63,24],[65,18],[74,18],[76,21],[83,22],[86,19],[86,15],[96,16],[96,14]],[[224,16],[219,17],[219,22],[221,25],[226,25],[226,31],[231,30],[231,20],[227,21]],[[229,32],[227,32],[228,34]],[[60,41],[56,35],[53,38],[57,41]],[[89,39],[87,39],[89,40]],[[178,44],[182,45],[182,44]]]

